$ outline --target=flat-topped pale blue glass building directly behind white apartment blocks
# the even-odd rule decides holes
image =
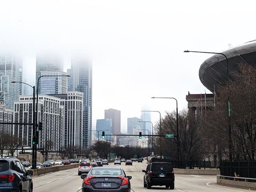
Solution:
[[[62,71],[43,71],[40,80],[40,94],[66,94],[68,90],[67,73]],[[59,75],[59,76],[51,76]],[[63,76],[61,76],[63,75]]]

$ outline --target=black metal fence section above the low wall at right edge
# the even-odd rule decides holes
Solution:
[[[221,161],[220,175],[256,178],[256,161],[229,162]],[[235,175],[236,173],[236,175]]]

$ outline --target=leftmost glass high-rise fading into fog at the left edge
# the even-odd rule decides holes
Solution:
[[[22,94],[22,59],[11,54],[0,55],[0,98],[5,105],[13,108],[13,102]]]

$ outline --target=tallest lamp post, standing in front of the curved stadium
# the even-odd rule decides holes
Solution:
[[[210,54],[219,54],[223,55],[226,58],[227,62],[227,78],[229,81],[229,61],[228,57],[224,53],[218,53],[218,52],[206,52],[206,51],[192,51],[192,50],[184,50],[185,53],[194,52],[194,53],[210,53]],[[229,95],[228,95],[228,126],[229,126],[229,161],[232,161],[232,138],[231,138],[231,119],[230,119],[231,113],[230,113],[230,101],[229,101]]]

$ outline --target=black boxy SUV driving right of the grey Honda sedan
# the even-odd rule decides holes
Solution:
[[[144,187],[150,189],[152,185],[165,185],[166,188],[174,189],[174,169],[170,162],[152,162],[146,170],[142,170],[144,175]]]

